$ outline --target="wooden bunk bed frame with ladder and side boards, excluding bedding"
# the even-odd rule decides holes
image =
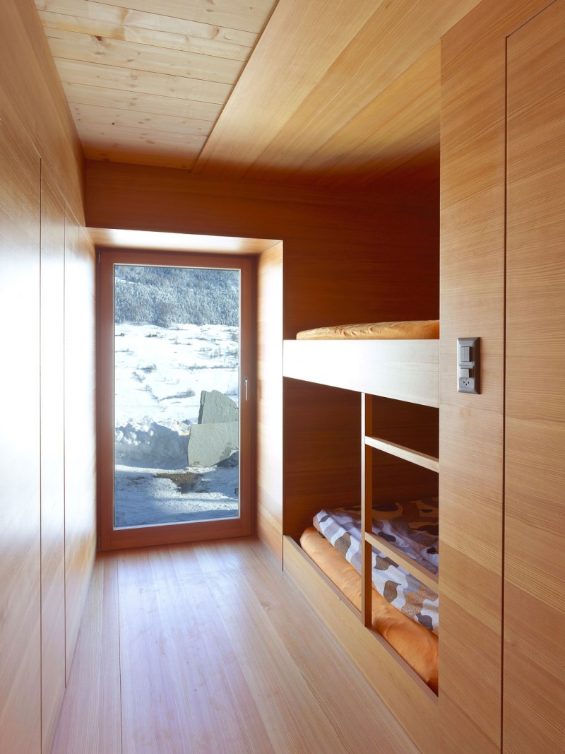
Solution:
[[[439,406],[438,340],[323,340],[283,344],[283,375],[359,394],[362,500],[362,606],[353,605],[294,535],[283,535],[283,567],[420,748],[437,740],[438,696],[371,628],[371,550],[377,548],[439,593],[438,578],[371,532],[373,456],[383,452],[439,472],[439,459],[385,437],[376,437],[373,397]],[[285,504],[287,500],[285,498]]]

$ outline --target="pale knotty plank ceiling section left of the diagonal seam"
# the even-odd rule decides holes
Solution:
[[[273,0],[167,0],[158,14],[142,0],[35,5],[87,155],[190,168]],[[189,117],[203,118],[198,133],[171,129],[171,116],[177,125],[187,117],[186,103],[193,103]],[[206,103],[215,108],[206,110]]]

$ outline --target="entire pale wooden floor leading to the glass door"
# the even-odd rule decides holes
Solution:
[[[53,754],[417,752],[254,539],[99,556]]]

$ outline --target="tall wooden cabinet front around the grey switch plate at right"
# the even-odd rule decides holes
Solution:
[[[484,0],[442,46],[447,751],[563,747],[563,6]],[[481,336],[480,396],[458,336]]]

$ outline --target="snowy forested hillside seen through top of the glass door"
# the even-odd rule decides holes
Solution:
[[[239,271],[116,266],[115,321],[239,324]]]

